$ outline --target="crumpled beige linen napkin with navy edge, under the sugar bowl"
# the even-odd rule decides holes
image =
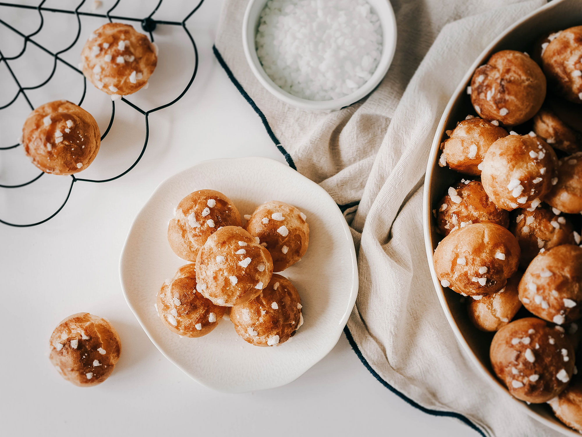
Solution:
[[[495,390],[456,342],[428,270],[421,219],[446,103],[489,42],[545,0],[391,3],[398,44],[389,72],[367,99],[340,111],[296,109],[262,88],[242,47],[247,1],[225,1],[215,54],[289,165],[345,211],[360,274],[346,335],[368,370],[421,410],[482,435],[558,435]]]

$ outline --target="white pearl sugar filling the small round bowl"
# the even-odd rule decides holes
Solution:
[[[269,0],[255,37],[265,73],[307,100],[351,94],[382,53],[382,26],[365,0]]]

